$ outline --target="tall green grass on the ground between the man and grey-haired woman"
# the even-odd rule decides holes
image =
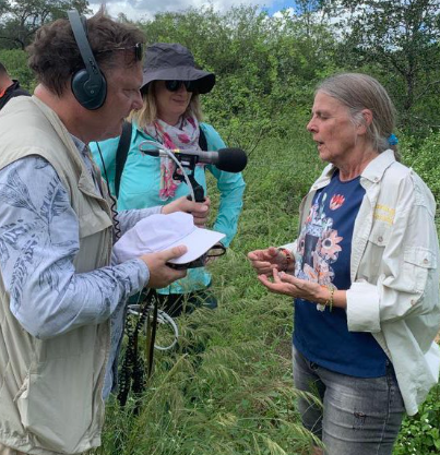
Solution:
[[[246,258],[296,237],[300,200],[323,167],[302,125],[286,137],[262,140],[250,155],[236,239],[211,265],[218,309],[179,318],[178,347],[156,352],[142,396],[124,408],[109,400],[95,454],[309,453],[312,436],[300,426],[292,382],[292,300],[267,294]]]

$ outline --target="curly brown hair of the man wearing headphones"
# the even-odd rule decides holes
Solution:
[[[120,64],[120,59],[115,58],[116,52],[111,49],[128,49],[123,52],[124,63],[135,63],[134,51],[130,49],[138,43],[145,43],[144,34],[139,28],[115,22],[106,14],[104,8],[88,19],[86,25],[92,52],[104,74]],[[58,96],[70,87],[72,74],[84,69],[72,27],[66,19],[59,19],[39,28],[34,43],[27,47],[27,52],[29,67],[36,73],[38,82]]]

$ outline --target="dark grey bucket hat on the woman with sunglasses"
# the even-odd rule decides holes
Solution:
[[[177,43],[148,46],[143,73],[141,92],[145,92],[152,81],[197,81],[198,93],[209,93],[215,84],[215,74],[197,69],[192,53]]]

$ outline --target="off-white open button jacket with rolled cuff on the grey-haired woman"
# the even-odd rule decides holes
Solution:
[[[329,165],[300,206],[306,221],[317,190],[328,185]],[[412,169],[388,149],[364,170],[366,190],[355,220],[347,323],[350,332],[370,332],[394,366],[409,416],[438,381],[440,349],[439,243],[436,202]],[[286,244],[296,253],[296,242]]]

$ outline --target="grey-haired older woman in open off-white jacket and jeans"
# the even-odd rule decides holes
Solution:
[[[307,129],[329,165],[299,237],[248,256],[270,291],[295,299],[295,385],[323,403],[299,400],[305,427],[326,455],[391,454],[405,409],[438,381],[436,203],[390,147],[394,108],[374,79],[326,79]]]

